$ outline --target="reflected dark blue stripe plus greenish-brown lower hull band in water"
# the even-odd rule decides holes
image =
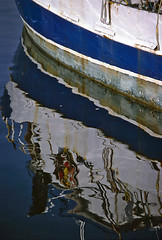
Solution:
[[[63,68],[56,61],[43,55],[32,44],[28,35],[24,35],[24,44],[27,56],[22,46],[19,46],[11,69],[11,78],[17,83],[18,88],[27,92],[30,98],[35,99],[39,104],[55,109],[69,119],[77,119],[86,126],[101,129],[105,136],[127,144],[138,154],[161,161],[162,139],[159,137],[162,115],[160,112],[136,105],[122,95],[117,95],[104,87],[101,88],[100,85],[83,78],[76,72]],[[46,74],[44,74],[44,70]],[[40,81],[40,79],[42,80]],[[72,83],[75,88],[72,87],[71,90],[57,80],[64,85],[66,82]],[[72,93],[72,91],[77,92],[77,89],[81,94],[88,95],[91,101],[79,94]],[[110,114],[102,106],[108,109]],[[144,129],[148,128],[148,131],[150,128],[153,136],[138,126]]]

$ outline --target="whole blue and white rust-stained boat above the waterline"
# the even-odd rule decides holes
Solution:
[[[16,4],[44,53],[98,83],[162,107],[162,0]]]

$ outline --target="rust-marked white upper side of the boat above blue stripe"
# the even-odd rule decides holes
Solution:
[[[154,50],[157,45],[156,25],[159,21],[160,49],[162,48],[162,16],[156,13],[141,11],[119,3],[111,3],[111,24],[103,24],[101,19],[102,0],[33,0],[40,6],[57,15],[75,22],[78,26],[89,31],[99,33],[116,41],[138,46],[147,50]],[[136,3],[140,0],[136,0]],[[109,32],[113,31],[113,35]],[[152,51],[160,54],[159,51]]]

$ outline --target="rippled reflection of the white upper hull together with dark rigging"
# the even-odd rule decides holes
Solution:
[[[21,96],[21,102],[11,95],[15,104],[11,104],[10,116],[4,115],[3,119],[8,129],[7,139],[15,149],[19,147],[31,157],[28,170],[33,175],[33,204],[29,216],[46,213],[52,207],[54,211],[52,203],[67,198],[76,202],[72,213],[113,229],[120,238],[124,228],[159,224],[161,171],[158,162],[154,161],[153,166],[152,161],[142,157],[139,160],[124,144],[105,137],[98,129],[39,106],[14,83],[10,84],[11,94]],[[19,105],[23,107],[23,114],[21,109],[17,112]],[[138,168],[138,176],[132,168]],[[146,180],[139,181],[139,176],[144,179],[146,171],[153,177],[152,182],[147,175]],[[51,185],[61,192],[52,195]],[[84,239],[84,222],[80,223],[80,234]]]

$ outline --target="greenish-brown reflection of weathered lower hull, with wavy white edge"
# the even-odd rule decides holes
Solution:
[[[42,49],[32,41],[26,30],[23,31],[22,45],[26,55],[37,64],[38,68],[67,87],[76,94],[88,97],[96,106],[105,108],[111,115],[122,118],[142,128],[152,136],[162,137],[162,112],[148,105],[133,102],[130,98],[116,94],[115,91],[105,88],[89,78],[83,77],[53,58],[42,53]],[[115,72],[117,74],[117,72]]]

